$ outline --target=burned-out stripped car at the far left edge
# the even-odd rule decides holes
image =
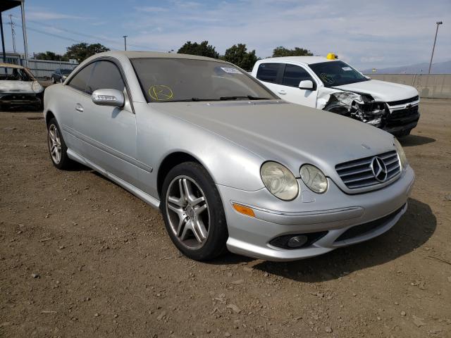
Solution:
[[[16,106],[42,108],[44,87],[22,65],[0,63],[0,110]]]

